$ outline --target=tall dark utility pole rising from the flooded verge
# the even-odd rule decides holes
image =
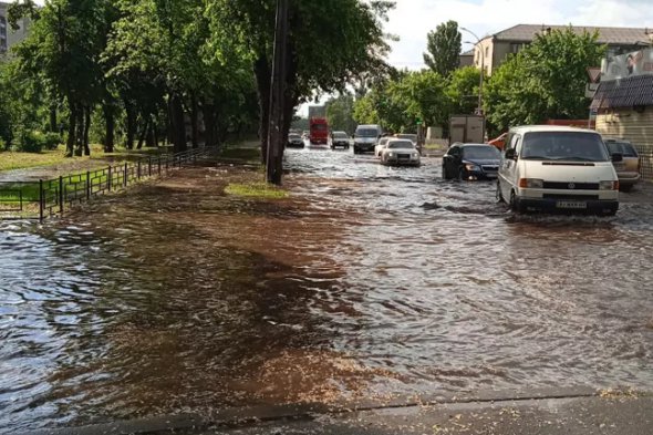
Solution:
[[[270,128],[266,158],[266,179],[268,183],[276,185],[281,185],[281,175],[283,173],[282,139],[283,108],[286,106],[286,65],[288,64],[288,1],[277,0],[277,23],[270,85]]]

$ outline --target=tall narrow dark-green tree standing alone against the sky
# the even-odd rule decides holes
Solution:
[[[428,32],[424,63],[442,75],[447,77],[460,64],[460,32],[456,21],[447,21]]]

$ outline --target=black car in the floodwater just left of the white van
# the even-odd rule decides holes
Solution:
[[[456,143],[442,159],[444,179],[496,179],[501,153],[488,144]]]

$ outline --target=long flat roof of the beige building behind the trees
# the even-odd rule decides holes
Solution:
[[[494,37],[499,41],[530,42],[535,39],[536,34],[542,33],[547,29],[554,30],[566,28],[568,28],[568,25],[517,24],[510,29],[495,33]],[[599,31],[599,42],[602,44],[649,44],[649,35],[644,28],[597,28],[591,25],[574,25],[572,29],[578,34],[583,33],[583,31]]]

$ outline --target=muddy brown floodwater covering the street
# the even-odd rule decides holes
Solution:
[[[653,390],[653,189],[515,217],[440,162],[291,151],[290,199],[218,166],[0,222],[0,433],[226,406]]]

